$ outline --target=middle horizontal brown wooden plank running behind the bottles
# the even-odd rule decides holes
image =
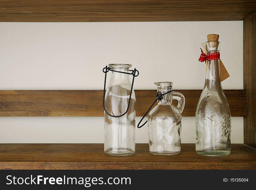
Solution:
[[[195,116],[202,90],[176,90],[185,96],[183,116]],[[246,114],[245,90],[224,90],[231,115]],[[156,90],[135,90],[136,116],[143,116]],[[102,90],[0,91],[0,117],[104,116]],[[174,105],[177,102],[174,102]]]

